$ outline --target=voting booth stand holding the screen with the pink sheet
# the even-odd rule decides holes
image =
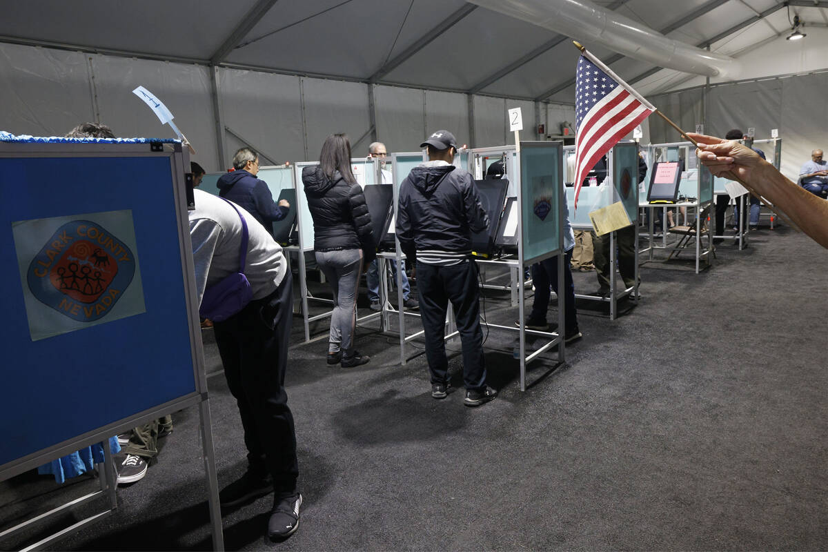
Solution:
[[[642,195],[643,198],[646,198],[646,195]],[[681,199],[685,198],[685,199]],[[711,220],[705,218],[705,220],[701,220],[700,213],[703,212],[705,206],[710,204],[713,201],[713,175],[710,174],[710,171],[707,170],[704,166],[696,166],[691,170],[686,170],[681,174],[681,182],[679,184],[679,200],[676,201],[675,204],[668,204],[666,207],[664,204],[648,204],[646,200],[640,202],[639,206],[643,209],[650,209],[650,223],[649,223],[649,235],[650,235],[650,245],[649,247],[645,248],[643,251],[639,252],[639,257],[641,253],[647,253],[647,258],[643,262],[652,262],[654,260],[653,252],[656,249],[662,249],[664,251],[672,253],[680,253],[683,251],[684,247],[678,247],[681,240],[676,242],[667,242],[666,236],[662,238],[663,242],[662,245],[659,246],[655,242],[655,233],[653,230],[654,225],[654,213],[653,209],[676,209],[681,212],[682,208],[686,209],[685,214],[685,222],[687,221],[695,221],[695,235],[693,239],[693,243],[695,247],[693,248],[695,254],[695,271],[696,274],[700,272],[701,269],[701,262],[704,260],[705,266],[704,268],[709,268],[713,266],[712,257],[715,256],[715,252],[713,249],[713,231],[709,230],[705,233],[705,238],[701,237],[703,227],[706,225],[710,225],[712,223]],[[713,213],[713,206],[710,206],[709,213]],[[692,214],[692,216],[691,216]],[[708,217],[710,218],[710,217]],[[666,226],[667,224],[667,214],[664,213],[664,219],[662,224]],[[708,226],[710,228],[710,226]],[[665,234],[669,233],[668,230],[665,230]],[[667,257],[670,258],[670,257]]]

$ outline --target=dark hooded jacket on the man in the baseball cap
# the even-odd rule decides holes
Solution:
[[[430,161],[400,185],[397,238],[406,257],[416,252],[471,254],[471,234],[489,226],[474,179],[466,170]]]

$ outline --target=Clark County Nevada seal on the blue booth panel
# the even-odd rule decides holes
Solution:
[[[106,316],[135,275],[129,247],[99,224],[73,220],[31,260],[26,281],[41,303],[79,322]]]

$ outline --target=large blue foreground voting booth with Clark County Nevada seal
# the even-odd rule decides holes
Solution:
[[[223,550],[189,156],[171,141],[0,136],[0,346],[10,368],[0,479],[197,405],[213,545]],[[103,449],[108,510],[33,546],[117,507]]]

